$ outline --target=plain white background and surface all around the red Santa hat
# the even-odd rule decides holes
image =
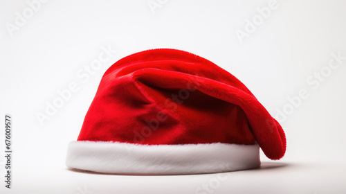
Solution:
[[[283,1],[247,37],[246,19],[261,1],[0,1],[0,115],[11,114],[12,189],[5,188],[1,151],[0,193],[345,193],[346,60],[329,69],[332,54],[346,56],[346,1]],[[151,10],[149,3],[160,7]],[[154,4],[154,3],[153,3]],[[18,17],[25,17],[18,26]],[[29,15],[29,16],[28,16]],[[257,18],[258,19],[258,18]],[[17,25],[13,30],[9,25]],[[116,50],[81,78],[102,47]],[[185,176],[77,173],[64,164],[77,139],[104,71],[126,55],[149,48],[177,48],[233,73],[282,119],[287,152],[280,161],[262,156],[262,168]],[[335,62],[335,61],[334,61]],[[316,83],[316,72],[324,78]],[[326,74],[327,73],[327,74]],[[85,75],[84,75],[85,76]],[[307,80],[314,80],[314,84]],[[78,91],[40,124],[38,112],[71,83]],[[293,107],[288,98],[305,89]],[[223,179],[220,179],[223,177]],[[226,178],[225,178],[226,177]],[[211,190],[198,190],[206,184]]]

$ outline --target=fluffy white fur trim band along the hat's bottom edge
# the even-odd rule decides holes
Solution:
[[[98,173],[136,175],[221,173],[260,166],[260,147],[257,143],[139,145],[72,141],[66,166]]]

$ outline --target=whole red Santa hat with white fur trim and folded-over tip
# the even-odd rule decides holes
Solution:
[[[104,73],[66,165],[98,173],[174,175],[260,166],[284,131],[235,76],[192,53],[154,49]]]

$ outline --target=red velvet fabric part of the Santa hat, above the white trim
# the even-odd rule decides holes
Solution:
[[[113,64],[78,141],[257,142],[270,159],[286,150],[282,127],[242,82],[204,58],[174,49],[143,51]]]

